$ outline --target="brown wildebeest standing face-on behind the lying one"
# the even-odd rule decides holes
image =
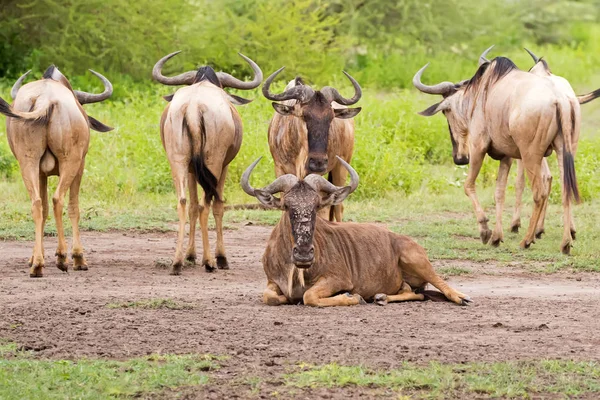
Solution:
[[[275,161],[275,174],[324,175],[329,172],[329,181],[342,185],[346,181],[346,170],[336,161],[339,155],[346,162],[352,159],[354,150],[354,121],[351,119],[361,110],[347,108],[356,104],[362,90],[354,78],[344,72],[352,86],[354,96],[347,99],[333,87],[314,90],[297,77],[280,94],[271,93],[269,88],[283,68],[275,71],[263,85],[263,95],[273,101],[276,113],[269,124],[269,149]],[[343,205],[332,207],[329,219],[341,222]],[[325,210],[326,211],[326,210]]]

